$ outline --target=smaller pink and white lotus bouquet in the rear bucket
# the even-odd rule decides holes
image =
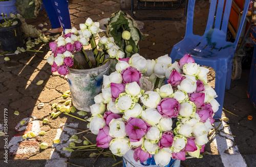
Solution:
[[[115,44],[114,38],[106,38],[103,36],[98,45],[102,50],[101,53],[97,48],[95,37],[99,31],[99,22],[93,22],[91,18],[86,20],[86,23],[79,24],[80,30],[75,27],[65,30],[67,33],[65,37],[58,37],[56,42],[50,42],[52,53],[48,57],[47,62],[52,66],[52,72],[58,72],[60,75],[67,75],[69,68],[84,69],[76,59],[74,53],[81,51],[89,68],[94,68],[90,62],[87,53],[84,51],[83,46],[91,44],[96,67],[101,66],[107,60],[104,60],[104,55],[109,54],[110,58],[123,58],[124,52]]]

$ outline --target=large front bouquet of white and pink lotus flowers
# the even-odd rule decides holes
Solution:
[[[171,158],[185,160],[187,154],[202,157],[215,121],[212,117],[219,108],[216,92],[207,85],[209,70],[188,54],[173,64],[165,55],[155,65],[144,61],[139,54],[119,59],[116,71],[104,76],[102,93],[94,97],[87,125],[97,135],[97,146],[110,148],[117,156],[133,150],[135,161],[140,162],[154,156],[160,166]],[[166,73],[167,84],[144,91],[140,77],[153,73],[158,77]]]

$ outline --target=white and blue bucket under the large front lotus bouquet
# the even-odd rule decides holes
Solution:
[[[136,162],[133,158],[134,151],[129,150],[125,155],[123,155],[123,167],[160,167],[156,164],[154,155],[152,158],[148,158],[145,162]],[[180,167],[180,160],[178,159],[170,159],[169,164],[165,165],[164,167]]]

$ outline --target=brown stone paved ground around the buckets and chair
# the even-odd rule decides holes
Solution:
[[[88,17],[92,18],[94,21],[99,21],[103,18],[110,17],[112,13],[120,10],[119,0],[73,0],[69,1],[69,3],[72,25],[77,28],[79,27],[79,23],[85,22]],[[196,7],[194,33],[202,35],[207,21],[207,14],[205,13],[208,12],[209,3],[208,1],[200,1],[197,2]],[[184,8],[184,6],[173,11],[163,11],[163,13],[167,15],[168,12],[170,12],[170,14],[178,13],[180,15],[184,12],[182,8]],[[123,11],[131,15],[130,10]],[[154,13],[159,13],[159,11],[155,10],[146,13],[154,15]],[[137,16],[145,16],[145,13],[143,14],[142,11],[137,11]],[[140,54],[146,59],[156,59],[161,55],[169,54],[173,45],[182,40],[185,35],[185,21],[186,18],[181,21],[142,20],[144,23],[142,32],[149,36],[139,43]],[[43,22],[50,24],[46,11],[40,11],[37,19],[27,20],[27,22],[35,26]],[[45,27],[50,29],[50,25],[44,26],[43,28]],[[37,28],[41,29],[38,26]],[[65,125],[79,129],[87,129],[86,123],[65,115],[60,115],[56,119],[50,118],[52,112],[51,104],[58,102],[63,92],[69,90],[69,86],[65,77],[51,73],[50,65],[46,62],[50,54],[49,45],[39,44],[35,49],[44,52],[24,52],[18,55],[8,55],[11,59],[9,62],[4,61],[3,56],[0,57],[0,113],[4,113],[4,108],[8,109],[9,159],[27,156],[31,156],[29,159],[52,159],[51,163],[50,161],[49,163],[48,161],[41,163],[42,166],[47,166],[47,164],[54,164],[53,161],[55,158],[64,158],[64,160],[66,160],[67,158],[88,157],[88,155],[84,153],[70,154],[69,152],[62,151],[62,147],[68,145],[68,138],[78,132]],[[0,51],[2,52],[2,50]],[[208,76],[211,86],[214,86],[214,77],[215,73],[211,70]],[[226,132],[228,131],[236,135],[236,137],[232,138],[229,135],[218,132],[214,140],[206,146],[206,151],[209,153],[215,155],[240,153],[243,156],[246,154],[256,154],[256,145],[254,142],[256,139],[256,115],[255,109],[246,95],[248,78],[249,70],[243,70],[241,79],[231,81],[231,89],[225,92],[224,108],[237,114],[239,117],[223,112],[223,116],[228,117],[230,121],[227,123],[229,129],[227,129],[228,127],[221,128]],[[37,86],[36,82],[39,80],[44,80],[44,83]],[[70,97],[68,99],[70,99]],[[44,103],[44,107],[41,109],[37,108],[38,103]],[[13,114],[15,110],[19,111],[19,116]],[[253,116],[253,119],[248,120],[248,115]],[[76,114],[76,116],[78,115]],[[42,119],[44,118],[49,120],[48,124],[42,124]],[[23,126],[19,124],[22,120],[27,121]],[[0,116],[0,131],[3,131],[3,121],[4,116],[2,114],[2,116]],[[221,121],[217,120],[216,125],[220,124],[220,122]],[[34,131],[38,133],[41,130],[47,132],[45,136],[37,136],[32,140],[22,142],[20,135],[24,132]],[[95,143],[94,135],[90,133],[84,133],[84,135]],[[52,144],[54,138],[60,138],[61,143],[59,145]],[[80,136],[80,139],[82,140],[83,138]],[[0,137],[0,140],[2,141],[4,138]],[[42,142],[48,143],[48,149],[43,151],[39,150],[39,144]],[[222,150],[220,149],[221,147],[227,148],[227,150]],[[237,152],[238,150],[239,152]],[[3,159],[4,152],[4,142],[0,142],[1,160]],[[39,153],[34,155],[37,152]],[[218,156],[208,155],[205,157],[206,162],[208,158],[221,163],[220,157]],[[244,159],[248,166],[255,166],[252,165],[255,163],[251,161],[250,156],[244,156]],[[80,162],[76,159],[70,159],[70,161],[73,163],[79,162],[80,165],[84,166],[92,166],[93,163],[91,159],[86,160],[88,165],[84,164],[84,161]],[[101,166],[103,161],[108,162],[109,165],[114,164],[114,161],[108,158],[108,160],[100,159],[100,161],[96,163],[96,166]],[[38,162],[39,161],[36,161],[36,163]],[[203,164],[202,162],[203,160],[190,159],[186,160],[184,163],[189,164],[189,166],[199,166],[199,164]],[[19,163],[24,163],[25,166],[25,164],[33,163],[33,161],[29,161],[28,163],[19,161]],[[11,162],[11,164],[14,166],[16,163]],[[12,166],[11,164],[10,166]],[[205,166],[211,166],[210,164],[205,164]]]

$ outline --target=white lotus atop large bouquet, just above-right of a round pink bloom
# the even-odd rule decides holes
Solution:
[[[147,61],[138,53],[132,55],[131,59],[129,60],[129,64],[135,67],[140,72],[145,72],[147,70]]]

